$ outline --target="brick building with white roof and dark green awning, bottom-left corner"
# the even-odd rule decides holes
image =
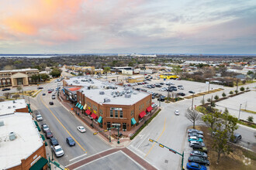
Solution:
[[[0,169],[47,169],[45,145],[29,113],[0,116]]]

